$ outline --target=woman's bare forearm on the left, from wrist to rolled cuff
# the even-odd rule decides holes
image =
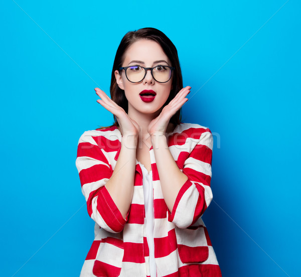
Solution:
[[[136,165],[137,141],[133,136],[122,136],[121,149],[111,178],[105,184],[123,218],[130,207]]]

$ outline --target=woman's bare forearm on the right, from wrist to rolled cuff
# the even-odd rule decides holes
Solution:
[[[168,148],[165,135],[153,135],[151,136],[151,141],[163,197],[168,209],[172,212],[177,195],[183,184],[188,180],[188,177],[178,168]]]

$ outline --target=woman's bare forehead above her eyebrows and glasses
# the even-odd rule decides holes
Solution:
[[[132,60],[143,61],[145,66],[150,66],[154,61],[159,60],[166,60],[170,64],[160,44],[147,39],[134,42],[125,51],[123,65],[127,65]]]

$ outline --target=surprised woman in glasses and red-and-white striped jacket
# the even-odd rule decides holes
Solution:
[[[201,215],[212,200],[213,139],[181,123],[174,44],[161,31],[128,32],[117,49],[110,127],[83,133],[76,166],[95,239],[81,276],[221,276]]]

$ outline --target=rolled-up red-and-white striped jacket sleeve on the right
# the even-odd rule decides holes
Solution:
[[[172,213],[168,210],[168,220],[179,228],[193,225],[213,198],[210,188],[212,149],[212,133],[206,128],[184,162],[183,173],[188,180],[178,193]]]

